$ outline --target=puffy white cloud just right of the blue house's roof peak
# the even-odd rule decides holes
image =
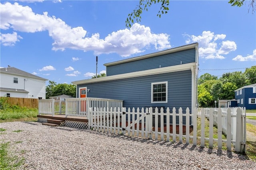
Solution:
[[[236,43],[234,41],[221,41],[221,47],[218,48],[217,41],[223,40],[226,38],[224,34],[214,34],[211,31],[203,31],[202,35],[188,35],[184,34],[186,39],[186,44],[188,43],[198,43],[198,53],[199,57],[205,59],[225,59],[223,55],[230,53],[230,51],[236,50]]]

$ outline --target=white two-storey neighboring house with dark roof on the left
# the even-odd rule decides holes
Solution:
[[[15,67],[0,68],[0,96],[45,99],[46,80]]]

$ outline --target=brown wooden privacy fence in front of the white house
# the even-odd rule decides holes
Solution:
[[[7,102],[10,105],[17,105],[17,106],[20,106],[20,107],[30,107],[30,108],[37,108],[38,107],[38,99],[32,99],[32,98],[12,98],[12,97],[8,97]]]

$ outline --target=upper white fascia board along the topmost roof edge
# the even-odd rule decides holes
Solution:
[[[183,51],[183,50],[187,50],[187,49],[193,49],[193,48],[197,49],[197,47],[198,47],[198,43],[184,45],[184,46],[176,47],[176,48],[173,48],[173,49],[168,49],[168,50],[159,51],[159,52],[156,52],[156,53],[142,55],[140,57],[133,57],[133,58],[130,58],[130,59],[124,59],[124,60],[115,61],[115,62],[112,62],[112,63],[106,63],[106,64],[104,64],[104,66],[112,66],[112,65],[121,64],[121,63],[128,63],[128,62],[131,62],[131,61],[137,61],[137,60],[146,59],[146,58],[150,58],[150,57],[156,57],[156,56],[159,56],[159,55],[170,54],[170,53],[174,53],[174,52],[177,52],[177,51]],[[197,57],[198,56],[196,56],[196,62],[198,61]]]

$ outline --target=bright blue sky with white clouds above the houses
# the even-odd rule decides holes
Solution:
[[[170,1],[144,11],[127,28],[139,1],[1,0],[0,66],[57,83],[91,78],[105,63],[199,43],[199,76],[220,77],[256,65],[256,14],[249,2]]]

